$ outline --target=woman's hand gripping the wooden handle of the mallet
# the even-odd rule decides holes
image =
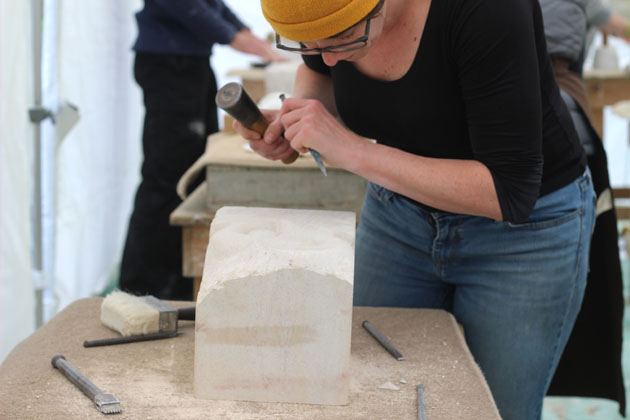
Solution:
[[[278,118],[280,111],[261,110],[261,112],[268,121],[271,121],[264,136],[261,136],[254,130],[250,130],[236,120],[232,123],[232,127],[249,142],[252,150],[262,157],[270,160],[282,160],[284,163],[293,162],[297,158],[298,152],[284,138],[284,127]]]

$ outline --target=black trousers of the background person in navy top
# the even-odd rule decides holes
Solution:
[[[146,109],[144,161],[120,288],[191,300],[192,279],[182,276],[181,228],[169,225],[169,215],[181,203],[177,181],[203,154],[207,136],[218,131],[216,80],[208,57],[166,54],[137,53],[134,75]]]

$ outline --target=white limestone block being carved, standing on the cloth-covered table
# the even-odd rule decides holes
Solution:
[[[197,397],[347,404],[354,233],[352,212],[217,212],[197,296]]]

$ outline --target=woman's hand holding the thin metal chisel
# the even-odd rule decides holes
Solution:
[[[352,166],[352,151],[366,141],[344,127],[316,99],[289,98],[282,104],[280,121],[284,137],[300,153],[317,150],[332,167]]]

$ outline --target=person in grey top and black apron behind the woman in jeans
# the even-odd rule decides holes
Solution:
[[[540,4],[560,94],[586,151],[598,197],[584,301],[548,394],[616,400],[625,416],[621,368],[624,302],[617,218],[606,152],[591,122],[582,67],[589,31],[598,28],[627,41],[630,27],[600,0],[540,0]]]

